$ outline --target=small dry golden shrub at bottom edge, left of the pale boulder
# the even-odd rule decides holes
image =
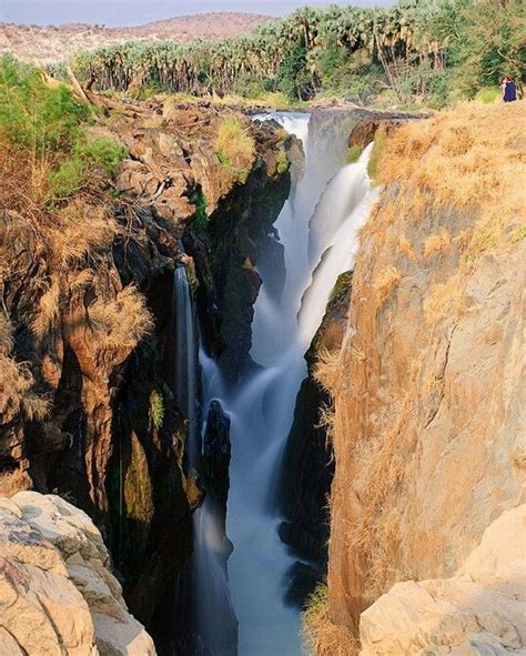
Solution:
[[[356,656],[360,644],[347,627],[328,617],[328,591],[321,584],[303,613],[303,639],[314,656]]]

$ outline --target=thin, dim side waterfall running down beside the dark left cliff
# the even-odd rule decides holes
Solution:
[[[172,315],[175,331],[175,381],[178,407],[189,421],[186,453],[194,472],[200,470],[203,435],[211,401],[221,395],[221,376],[213,360],[199,350],[202,367],[202,424],[198,424],[198,344],[199,330],[184,266],[174,272]],[[220,519],[221,511],[213,494],[205,494],[192,515],[193,552],[186,564],[183,603],[186,605],[192,648],[206,656],[232,656],[236,626],[229,592],[225,562],[229,543]],[[175,650],[174,653],[179,653]]]

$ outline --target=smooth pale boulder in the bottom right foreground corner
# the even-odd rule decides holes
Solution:
[[[398,583],[362,614],[361,656],[526,654],[526,505],[503,513],[452,578]]]

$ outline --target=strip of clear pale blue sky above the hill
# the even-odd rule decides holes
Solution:
[[[371,7],[394,4],[394,1],[354,0],[340,4]],[[205,11],[249,11],[282,16],[304,4],[324,7],[333,3],[334,0],[0,0],[0,22],[87,22],[124,27]]]

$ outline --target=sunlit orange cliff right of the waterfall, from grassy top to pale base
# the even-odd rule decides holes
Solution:
[[[357,638],[367,655],[526,644],[522,112],[466,105],[376,153],[384,190],[325,372],[336,466],[320,654],[357,653]]]

